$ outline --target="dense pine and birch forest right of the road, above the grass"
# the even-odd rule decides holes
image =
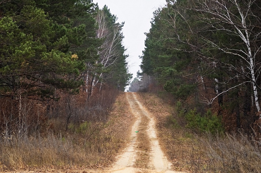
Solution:
[[[172,94],[188,127],[220,129],[222,119],[228,132],[258,132],[260,5],[253,0],[168,0],[154,12],[146,33],[140,90],[153,90],[156,82]]]

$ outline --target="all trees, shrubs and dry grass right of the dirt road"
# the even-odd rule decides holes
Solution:
[[[131,87],[168,112],[159,136],[177,170],[261,170],[259,4],[170,0],[154,12]]]

